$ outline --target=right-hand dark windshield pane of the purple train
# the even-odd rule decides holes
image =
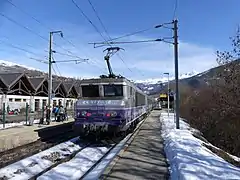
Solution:
[[[104,85],[105,97],[119,97],[123,96],[123,85]]]

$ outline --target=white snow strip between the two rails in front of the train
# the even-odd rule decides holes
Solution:
[[[37,179],[80,179],[109,149],[110,147],[87,147],[70,161],[56,166]]]

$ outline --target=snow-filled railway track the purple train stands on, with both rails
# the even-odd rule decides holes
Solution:
[[[99,179],[110,163],[116,160],[117,154],[131,143],[142,123],[143,121],[124,138],[109,139],[101,144],[89,144],[68,161],[34,179]]]

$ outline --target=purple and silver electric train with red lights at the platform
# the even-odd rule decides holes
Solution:
[[[153,98],[124,77],[82,80],[74,131],[82,136],[126,133],[154,108]]]

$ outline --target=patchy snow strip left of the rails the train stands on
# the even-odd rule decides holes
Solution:
[[[34,175],[39,174],[46,168],[55,164],[54,160],[63,159],[66,155],[81,149],[83,145],[77,144],[77,140],[78,138],[73,138],[0,169],[0,179],[30,179]]]

